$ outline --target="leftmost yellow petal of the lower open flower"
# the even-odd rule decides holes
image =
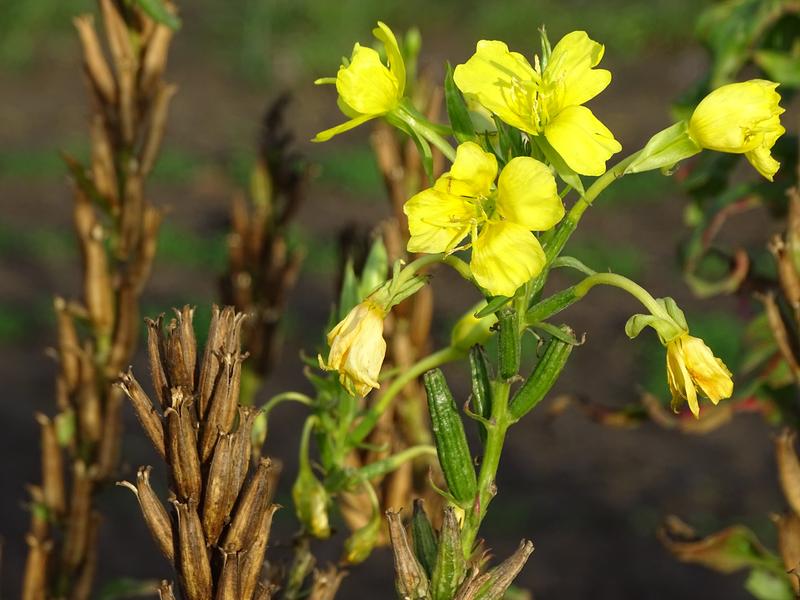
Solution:
[[[426,189],[403,205],[408,216],[409,252],[450,252],[469,233],[473,216],[459,197]]]

